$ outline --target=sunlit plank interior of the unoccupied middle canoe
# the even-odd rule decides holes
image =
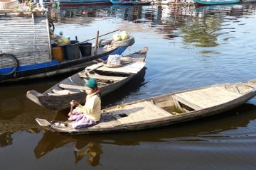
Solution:
[[[81,86],[90,78],[97,79],[98,86],[104,88],[122,81],[132,74],[137,74],[145,66],[144,59],[145,57],[132,57],[132,62],[123,63],[122,67],[117,68],[105,67],[103,63],[92,64],[84,71],[74,74],[48,89],[43,95],[60,96],[83,92]]]

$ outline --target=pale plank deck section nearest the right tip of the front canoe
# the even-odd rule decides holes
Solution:
[[[224,87],[209,87],[207,89],[200,89],[197,91],[187,91],[181,94],[175,94],[174,98],[184,105],[200,110],[212,106],[218,106],[222,103],[232,101],[235,98],[242,96],[226,90]]]

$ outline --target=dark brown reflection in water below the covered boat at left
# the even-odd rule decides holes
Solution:
[[[19,84],[1,84],[0,87],[0,147],[12,144],[11,135],[17,131],[38,133],[35,118],[53,119],[54,111],[43,109],[26,98],[26,91],[44,91],[55,81],[26,81]]]

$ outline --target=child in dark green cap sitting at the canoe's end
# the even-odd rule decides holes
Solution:
[[[84,86],[87,94],[85,106],[80,105],[78,101],[73,100],[70,102],[70,105],[76,106],[76,108],[72,113],[68,113],[70,116],[68,120],[74,121],[72,127],[75,129],[95,125],[100,120],[101,101],[97,81],[95,79],[89,79]]]

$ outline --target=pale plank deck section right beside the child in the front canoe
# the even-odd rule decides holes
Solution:
[[[171,113],[164,111],[149,101],[134,103],[124,106],[124,108],[114,108],[109,111],[119,123],[135,123],[156,118],[171,116]]]

